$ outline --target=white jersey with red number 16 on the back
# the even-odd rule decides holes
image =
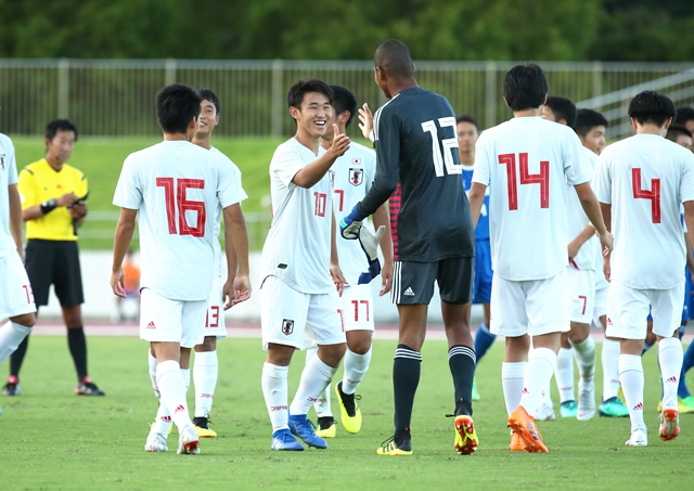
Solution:
[[[244,197],[229,159],[191,142],[164,141],[130,154],[113,204],[139,210],[140,285],[170,300],[207,300],[215,207]]]

